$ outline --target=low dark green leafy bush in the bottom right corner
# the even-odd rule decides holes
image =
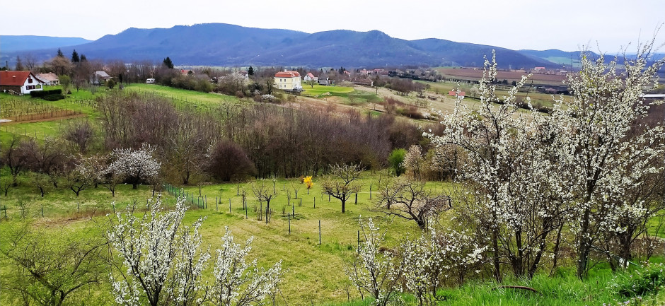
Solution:
[[[658,293],[665,285],[665,264],[647,264],[615,277],[615,292],[626,298]]]

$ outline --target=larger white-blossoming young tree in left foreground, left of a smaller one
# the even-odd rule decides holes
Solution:
[[[199,228],[204,219],[183,225],[184,198],[178,199],[175,211],[166,211],[161,198],[148,201],[143,216],[137,216],[135,208],[127,206],[125,212],[117,212],[107,233],[121,261],[110,274],[115,302],[140,305],[144,298],[151,306],[167,300],[201,305],[200,300],[207,296],[202,273],[210,258],[201,248]]]

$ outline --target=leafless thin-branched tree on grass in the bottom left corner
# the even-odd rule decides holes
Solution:
[[[0,254],[6,259],[0,271],[3,289],[21,297],[23,305],[76,304],[72,297],[100,283],[105,274],[100,237],[90,227],[76,235],[30,223],[6,228],[0,235]]]

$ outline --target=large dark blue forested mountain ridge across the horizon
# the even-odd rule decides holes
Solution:
[[[373,30],[332,30],[303,33],[293,30],[245,28],[224,23],[163,29],[129,28],[116,35],[62,49],[76,49],[88,59],[161,61],[176,65],[211,66],[345,66],[347,68],[402,65],[482,66],[492,49],[502,67],[559,66],[500,47],[449,40],[400,40]],[[36,52],[52,57],[52,50]],[[15,57],[15,56],[14,56]]]

